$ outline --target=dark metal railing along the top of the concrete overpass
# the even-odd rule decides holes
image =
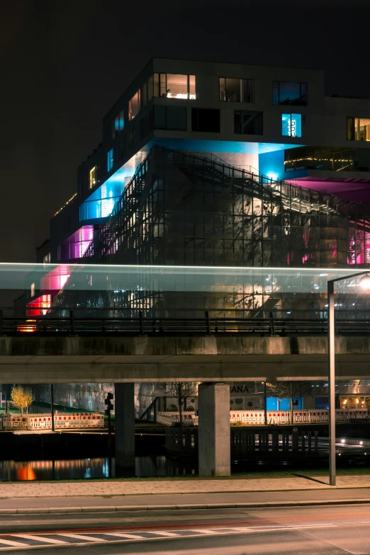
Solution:
[[[9,309],[7,309],[9,311]],[[25,309],[26,310],[26,309]],[[18,309],[17,309],[18,311]],[[45,312],[45,310],[41,310]],[[91,315],[91,313],[93,313]],[[23,333],[48,335],[65,334],[116,334],[160,335],[194,333],[216,335],[220,333],[243,333],[250,335],[317,334],[327,333],[326,312],[320,316],[306,317],[312,311],[305,310],[207,310],[179,309],[156,310],[156,315],[144,311],[119,308],[50,309],[37,316],[9,316],[0,309],[0,336]],[[25,313],[26,314],[26,313]],[[179,316],[184,314],[184,316]],[[220,314],[226,314],[222,316]],[[342,335],[370,333],[370,313],[364,311],[341,311],[336,320],[336,332]]]

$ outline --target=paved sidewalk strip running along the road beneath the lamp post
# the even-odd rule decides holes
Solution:
[[[263,508],[370,503],[370,476],[281,479],[18,482],[0,485],[0,514]]]

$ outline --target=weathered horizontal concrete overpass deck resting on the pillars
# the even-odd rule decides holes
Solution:
[[[370,336],[336,338],[338,379],[370,377]],[[327,379],[326,336],[0,337],[0,383]]]

